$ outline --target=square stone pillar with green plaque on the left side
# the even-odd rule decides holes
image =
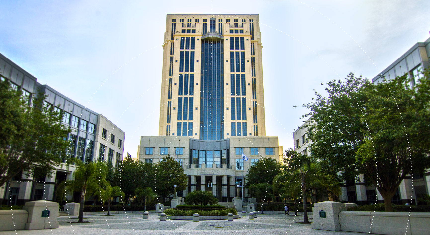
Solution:
[[[58,229],[58,203],[53,201],[28,201],[23,210],[28,211],[25,230]]]

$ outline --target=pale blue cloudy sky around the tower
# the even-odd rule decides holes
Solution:
[[[326,82],[372,79],[430,37],[428,0],[3,0],[0,12],[0,53],[106,116],[133,157],[158,135],[168,13],[260,15],[266,135],[284,150]]]

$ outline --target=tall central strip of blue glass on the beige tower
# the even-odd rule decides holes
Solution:
[[[200,139],[224,139],[224,43],[202,40]]]

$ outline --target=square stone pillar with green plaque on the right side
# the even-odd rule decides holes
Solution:
[[[313,204],[312,229],[341,231],[339,213],[346,210],[344,203],[336,201],[322,201]]]

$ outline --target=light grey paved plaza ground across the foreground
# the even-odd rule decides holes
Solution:
[[[264,214],[249,220],[240,217],[227,220],[166,220],[160,221],[157,214],[143,220],[141,214],[115,214],[113,216],[85,215],[84,221],[92,223],[70,223],[77,216],[58,217],[58,229],[4,231],[0,235],[358,235],[356,232],[331,232],[311,229],[310,224],[299,224],[303,216]],[[309,217],[312,222],[312,216]]]

